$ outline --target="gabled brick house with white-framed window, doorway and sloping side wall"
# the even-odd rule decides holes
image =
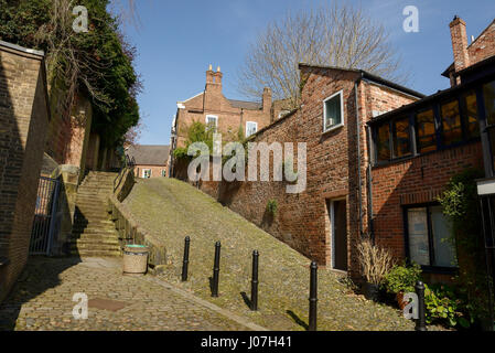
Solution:
[[[366,206],[359,207],[367,204],[365,122],[423,95],[361,69],[306,64],[300,69],[301,108],[251,141],[306,142],[306,190],[287,194],[284,182],[261,181],[202,182],[201,188],[321,265],[356,271],[353,244],[368,229]],[[273,218],[266,212],[269,200],[278,203]]]

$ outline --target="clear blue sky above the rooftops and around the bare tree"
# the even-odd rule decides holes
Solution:
[[[121,0],[122,1],[122,0]],[[125,32],[137,46],[137,71],[144,92],[139,97],[146,125],[142,145],[168,145],[176,101],[204,89],[208,64],[220,66],[223,92],[243,99],[235,76],[257,33],[288,11],[316,8],[330,0],[138,0],[140,25]],[[449,23],[455,14],[477,36],[495,18],[494,0],[366,0],[361,4],[390,33],[392,45],[410,72],[408,86],[432,94],[449,86],[441,73],[452,63]],[[419,32],[402,30],[406,6],[419,10]]]

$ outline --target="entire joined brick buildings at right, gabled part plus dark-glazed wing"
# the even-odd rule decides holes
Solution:
[[[357,274],[355,242],[369,234],[398,259],[440,278],[452,272],[455,252],[442,242],[449,225],[435,197],[466,168],[493,176],[495,32],[492,23],[467,45],[465,23],[455,18],[450,28],[452,88],[432,96],[364,71],[300,65],[301,108],[251,140],[306,142],[304,192],[287,194],[284,182],[200,186],[330,268]],[[275,217],[266,212],[269,200],[278,202]]]

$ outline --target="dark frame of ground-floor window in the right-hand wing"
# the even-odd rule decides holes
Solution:
[[[409,217],[408,217],[408,211],[411,208],[427,208],[427,229],[428,229],[428,247],[429,247],[429,257],[430,257],[430,265],[420,265],[421,269],[424,272],[434,272],[434,274],[456,274],[459,271],[459,263],[456,267],[445,267],[445,266],[435,266],[431,265],[434,263],[434,239],[433,239],[433,224],[431,221],[431,207],[440,206],[438,202],[426,202],[426,203],[418,203],[418,204],[408,204],[402,205],[402,221],[403,221],[403,246],[405,246],[405,254],[406,254],[406,263],[408,265],[411,265],[411,254],[409,248]],[[455,257],[458,257],[458,249],[455,248]],[[459,258],[458,258],[459,260]]]

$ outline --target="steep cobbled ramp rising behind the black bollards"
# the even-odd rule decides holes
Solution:
[[[170,264],[162,277],[168,282],[269,330],[306,329],[310,277],[306,257],[177,180],[139,181],[125,205],[140,224],[165,240]],[[186,235],[191,237],[190,280],[182,284]],[[220,296],[212,298],[208,278],[216,240],[222,242]],[[260,253],[257,312],[247,306],[254,249]],[[325,269],[319,271],[318,320],[319,330],[413,330],[413,323],[403,319],[398,309],[356,296],[338,275]]]

